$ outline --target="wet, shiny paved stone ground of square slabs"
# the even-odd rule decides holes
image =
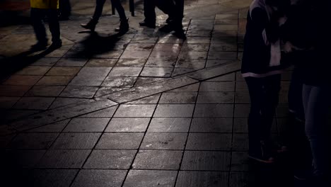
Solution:
[[[117,36],[110,7],[91,34],[79,23],[93,3],[73,1],[64,46],[50,53],[26,52],[35,42],[29,25],[0,28],[1,64],[11,69],[0,84],[8,186],[286,186],[284,167],[247,159],[250,101],[238,70],[250,1],[185,1],[187,40],[140,28],[141,3]],[[158,11],[158,23],[165,19]]]

